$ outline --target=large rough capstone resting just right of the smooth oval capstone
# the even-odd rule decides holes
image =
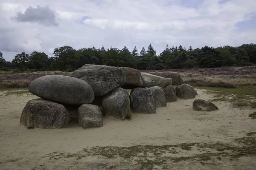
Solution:
[[[71,77],[88,82],[95,96],[104,96],[125,84],[125,72],[117,67],[86,64],[75,70]]]

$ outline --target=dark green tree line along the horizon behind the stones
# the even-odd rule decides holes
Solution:
[[[172,68],[213,68],[221,66],[248,66],[256,64],[256,44],[243,44],[238,47],[229,45],[213,48],[204,46],[186,49],[182,45],[164,48],[160,55],[151,44],[138,51],[124,46],[118,48],[81,48],[70,46],[55,48],[53,56],[44,52],[33,51],[31,54],[21,52],[12,62],[6,61],[0,52],[1,70],[19,71],[74,71],[84,64],[131,67],[139,70],[160,70]]]

